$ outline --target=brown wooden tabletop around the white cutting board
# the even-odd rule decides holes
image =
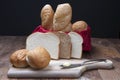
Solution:
[[[98,69],[86,71],[81,75],[79,79],[59,78],[59,80],[120,80],[120,40],[105,38],[92,38],[91,40],[92,50],[89,53],[84,52],[83,58],[110,59],[113,61],[114,68],[110,70]],[[0,80],[36,80],[7,77],[7,71],[10,67],[9,56],[14,51],[25,48],[25,41],[26,36],[0,36]]]

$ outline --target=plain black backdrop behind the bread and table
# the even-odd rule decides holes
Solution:
[[[120,37],[120,0],[0,0],[0,35],[29,35],[41,24],[40,10],[50,4],[72,6],[72,23],[85,20],[92,37]]]

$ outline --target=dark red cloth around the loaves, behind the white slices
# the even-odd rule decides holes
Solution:
[[[50,30],[45,30],[41,25],[37,26],[34,32],[42,32],[42,33],[46,33],[46,32],[52,32]],[[88,26],[87,30],[81,31],[81,32],[77,32],[78,34],[80,34],[83,38],[83,51],[90,51],[91,50],[91,28],[90,26]]]

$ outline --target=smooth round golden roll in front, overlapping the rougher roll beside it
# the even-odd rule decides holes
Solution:
[[[37,47],[29,51],[26,57],[28,64],[34,69],[42,69],[48,66],[51,57],[45,48]]]

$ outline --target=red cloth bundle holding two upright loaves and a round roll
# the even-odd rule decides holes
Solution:
[[[82,36],[83,51],[91,50],[91,27],[83,20],[71,23],[72,7],[68,3],[59,4],[56,11],[51,5],[46,4],[40,13],[41,25],[37,26],[34,32],[56,32],[63,31],[69,33],[74,31]]]

